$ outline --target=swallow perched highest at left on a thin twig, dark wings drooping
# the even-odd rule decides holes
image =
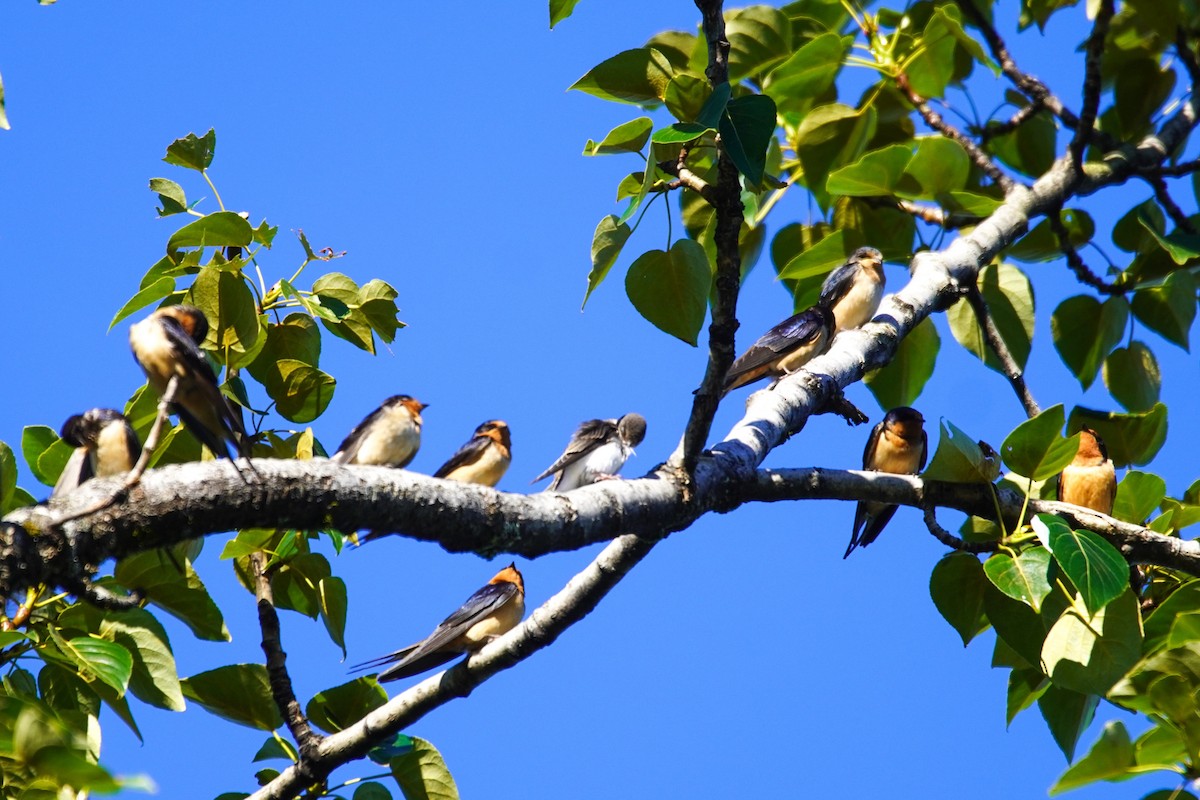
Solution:
[[[178,378],[172,410],[214,456],[229,455],[229,445],[250,458],[250,439],[241,414],[221,393],[200,342],[209,333],[204,312],[192,306],[164,306],[130,326],[133,357],[158,395]]]

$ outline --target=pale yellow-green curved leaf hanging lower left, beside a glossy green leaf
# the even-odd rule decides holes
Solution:
[[[133,656],[130,691],[134,697],[161,709],[184,710],[175,656],[158,620],[143,608],[110,612],[100,624],[100,634]]]

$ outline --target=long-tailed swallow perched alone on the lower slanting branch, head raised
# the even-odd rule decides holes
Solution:
[[[427,637],[403,650],[365,661],[350,672],[372,669],[395,662],[377,676],[383,684],[410,678],[462,654],[474,654],[485,644],[504,636],[524,616],[524,581],[517,565],[510,564],[482,589],[467,599],[462,608],[442,620]]]

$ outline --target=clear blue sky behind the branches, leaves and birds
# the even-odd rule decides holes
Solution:
[[[1075,58],[1082,8],[1062,17],[1015,49],[1078,104],[1078,71],[1054,59]],[[678,439],[704,353],[636,314],[623,290],[628,257],[580,313],[592,231],[617,210],[619,178],[638,168],[580,152],[637,112],[565,88],[608,55],[696,22],[685,0],[583,0],[554,31],[540,0],[5,4],[0,73],[12,131],[0,132],[0,439],[19,447],[22,426],[58,428],[85,408],[120,407],[140,385],[127,323],[106,329],[180,224],[155,218],[146,181],[166,176],[190,198],[206,196],[198,176],[160,158],[174,138],[215,127],[212,176],[226,204],[281,228],[262,260],[268,282],[299,264],[288,231],[302,228],[314,246],[348,252],[334,269],[400,293],[409,327],[378,357],[325,337],[322,367],[338,380],[316,423],[326,446],[404,392],[430,403],[416,471],[502,417],[515,461],[500,488],[526,492],[576,423],[631,410],[649,432],[625,471],[649,470]],[[1140,185],[1118,193],[1148,197]],[[1102,229],[1105,201],[1088,205]],[[809,213],[798,200],[781,210],[772,231]],[[646,230],[626,253],[662,246],[662,227]],[[906,277],[902,265],[887,273],[889,288]],[[1034,395],[1043,405],[1112,408],[1103,387],[1080,395],[1051,345],[1049,312],[1079,287],[1060,264],[1028,273],[1039,311]],[[764,258],[743,294],[739,345],[788,313]],[[946,417],[998,444],[1020,421],[1019,404],[943,319],[937,326],[943,354],[917,403],[931,438]],[[1180,413],[1194,404],[1195,365],[1156,335],[1139,336],[1159,355],[1175,409],[1150,469],[1180,494],[1194,470],[1183,455],[1200,433]],[[865,387],[850,396],[878,419]],[[742,399],[721,409],[715,437]],[[868,431],[814,419],[768,465],[857,468]],[[23,485],[48,493],[28,473]],[[901,510],[875,546],[842,561],[852,517],[834,501],[708,517],[662,542],[552,648],[409,733],[442,750],[467,798],[1044,795],[1064,762],[1037,710],[1006,732],[1007,672],[989,667],[992,637],[964,650],[929,600],[944,548]],[[956,527],[956,516],[943,523]],[[216,558],[224,539],[209,537],[199,570],[234,640],[198,643],[163,614],[182,675],[262,658],[252,597]],[[520,563],[530,606],[594,553]],[[419,638],[500,565],[401,539],[334,559],[349,584],[349,661]],[[320,622],[286,614],[283,633],[301,700],[346,680]],[[253,788],[260,765],[250,757],[264,734],[194,706],[174,715],[133,705],[146,742],[106,712],[106,764],[149,774],[166,798]],[[1109,705],[1097,718],[1130,720]],[[335,777],[373,771],[360,763]],[[1129,798],[1165,786],[1151,778],[1078,794]]]

